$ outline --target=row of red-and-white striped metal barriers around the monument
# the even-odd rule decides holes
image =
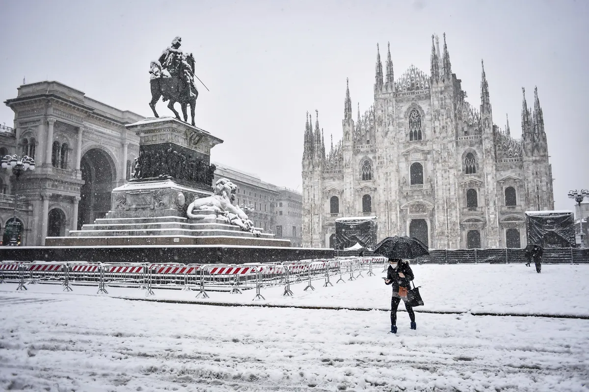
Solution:
[[[59,283],[64,291],[72,286],[98,286],[98,294],[108,294],[108,286],[137,287],[146,296],[153,289],[174,288],[197,290],[197,298],[207,299],[213,290],[243,294],[255,289],[254,300],[264,300],[262,289],[283,286],[283,296],[293,296],[291,284],[306,282],[303,291],[315,290],[313,282],[323,280],[323,287],[333,286],[332,276],[348,275],[348,280],[362,277],[362,271],[373,275],[375,264],[385,264],[384,257],[347,257],[338,259],[295,260],[276,264],[177,264],[129,263],[105,264],[88,262],[2,262],[0,283],[16,282],[16,290],[27,290],[27,284]],[[338,281],[339,282],[339,281]]]

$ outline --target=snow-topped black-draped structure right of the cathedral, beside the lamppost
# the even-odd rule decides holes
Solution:
[[[575,225],[572,212],[526,213],[528,244],[544,248],[574,247]]]

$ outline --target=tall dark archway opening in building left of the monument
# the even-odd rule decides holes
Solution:
[[[110,210],[111,190],[114,188],[114,165],[103,150],[88,150],[80,160],[82,180],[85,181],[80,190],[78,205],[78,230],[82,225],[103,218]]]

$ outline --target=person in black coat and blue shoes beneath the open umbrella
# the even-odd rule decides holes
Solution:
[[[411,329],[417,329],[415,324],[415,312],[413,308],[407,303],[407,290],[409,290],[409,282],[413,280],[413,271],[409,267],[409,260],[389,259],[389,268],[386,270],[386,284],[391,284],[393,294],[391,296],[391,332],[397,333],[397,309],[399,302],[403,300],[405,309],[409,313],[411,319]]]

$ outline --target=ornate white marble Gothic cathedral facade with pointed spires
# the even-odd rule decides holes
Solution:
[[[383,72],[384,71],[384,72]],[[335,219],[376,216],[378,240],[421,239],[431,249],[523,247],[525,211],[552,210],[552,172],[537,89],[522,99],[521,138],[494,124],[482,68],[481,106],[466,100],[432,36],[429,75],[394,79],[377,46],[374,103],[353,119],[346,86],[343,138],[325,146],[307,114],[302,159],[302,246],[332,247]],[[523,91],[523,89],[522,89]]]

